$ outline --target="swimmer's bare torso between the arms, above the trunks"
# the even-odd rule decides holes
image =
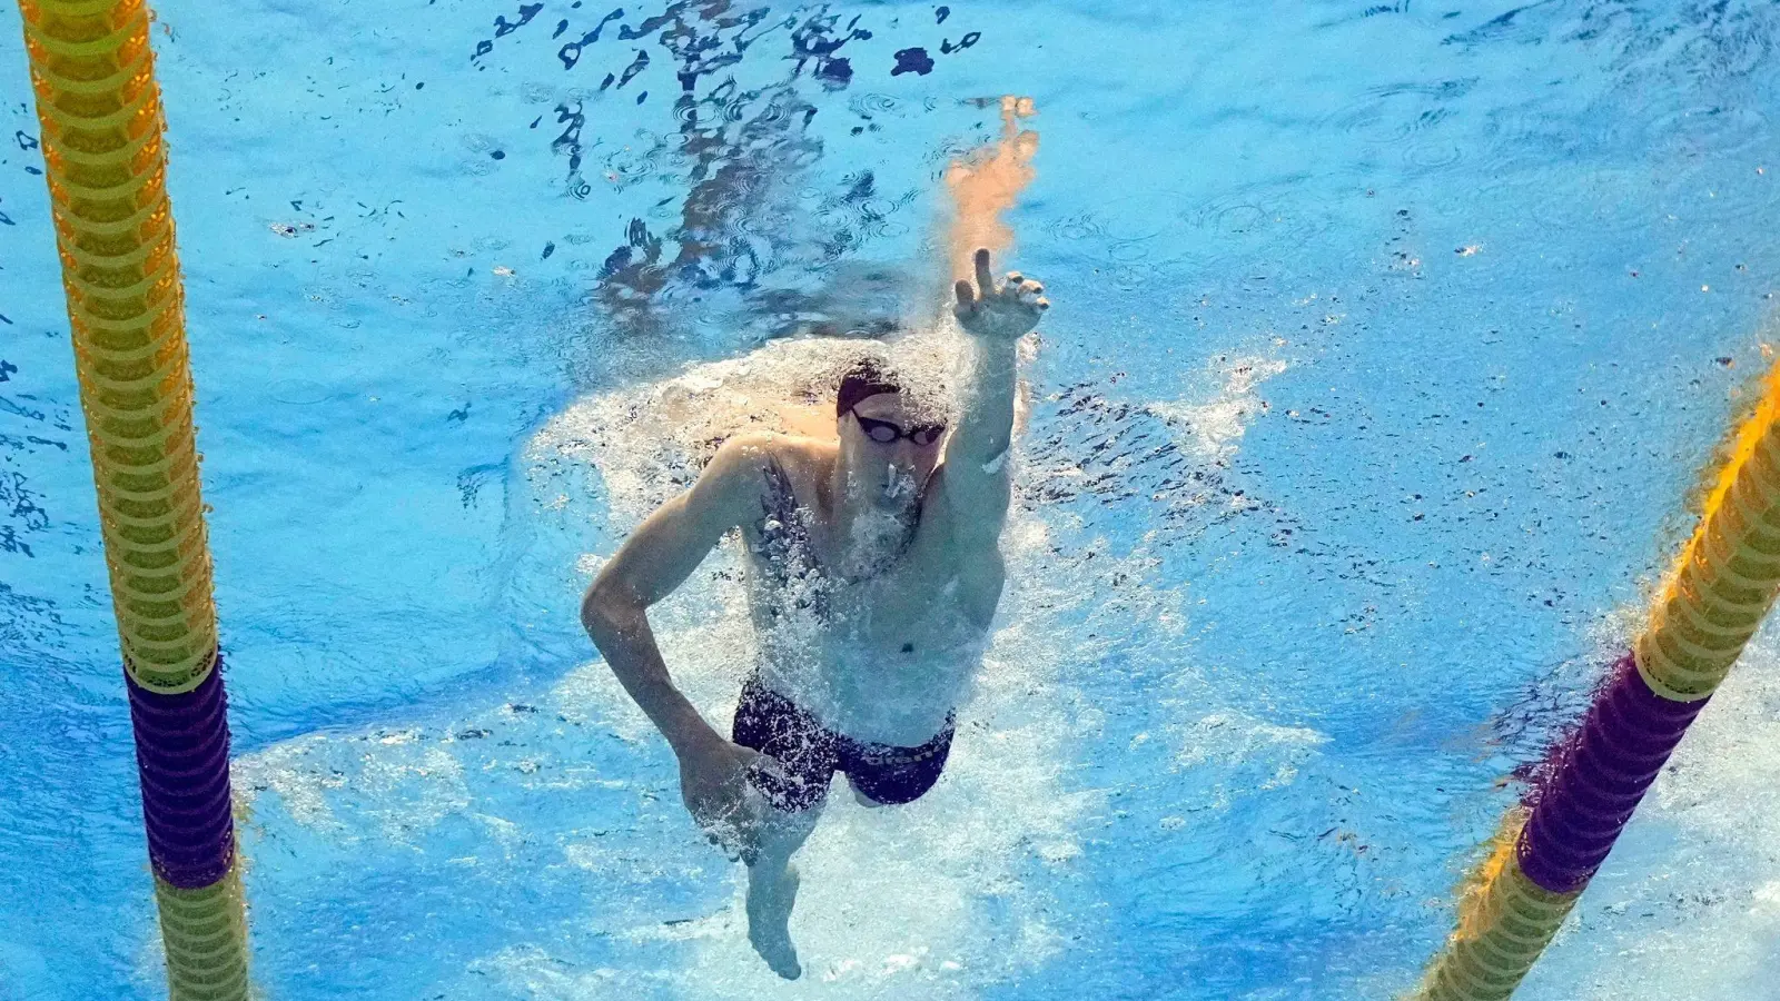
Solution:
[[[760,518],[742,525],[760,679],[840,734],[915,746],[981,666],[1000,556],[965,552],[934,504],[904,531],[847,533],[828,497],[833,463],[833,444],[776,440]]]

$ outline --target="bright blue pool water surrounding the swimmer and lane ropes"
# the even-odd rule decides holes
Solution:
[[[1775,338],[1771,4],[157,11],[267,997],[1390,997]],[[0,997],[157,997],[20,39]],[[812,839],[787,985],[575,604],[687,468],[662,394],[929,306],[1004,93],[1056,303],[1009,593],[947,778]],[[717,718],[735,602],[660,609]],[[1776,661],[1520,997],[1780,997]]]

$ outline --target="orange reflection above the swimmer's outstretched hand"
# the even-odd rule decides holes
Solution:
[[[1032,157],[1038,153],[1038,132],[1020,130],[1020,119],[1038,114],[1032,98],[1013,94],[1000,100],[1002,135],[945,169],[945,189],[952,194],[952,224],[947,235],[952,276],[970,278],[970,255],[988,248],[1000,256],[1013,246],[1013,228],[1002,219],[1020,201],[1020,192],[1032,183],[1038,171]]]

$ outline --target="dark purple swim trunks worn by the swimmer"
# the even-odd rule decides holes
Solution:
[[[730,739],[783,766],[781,775],[758,768],[748,773],[755,789],[780,810],[819,805],[828,798],[835,771],[846,771],[853,787],[872,802],[899,805],[913,803],[940,780],[945,755],[952,750],[952,714],[945,716],[945,728],[918,748],[856,741],[829,730],[796,702],[751,677],[742,686]]]

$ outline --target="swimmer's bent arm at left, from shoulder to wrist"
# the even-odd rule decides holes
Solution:
[[[682,759],[728,741],[673,686],[646,609],[685,582],[726,531],[758,515],[769,442],[765,435],[724,442],[691,490],[625,540],[580,602],[593,645]]]

